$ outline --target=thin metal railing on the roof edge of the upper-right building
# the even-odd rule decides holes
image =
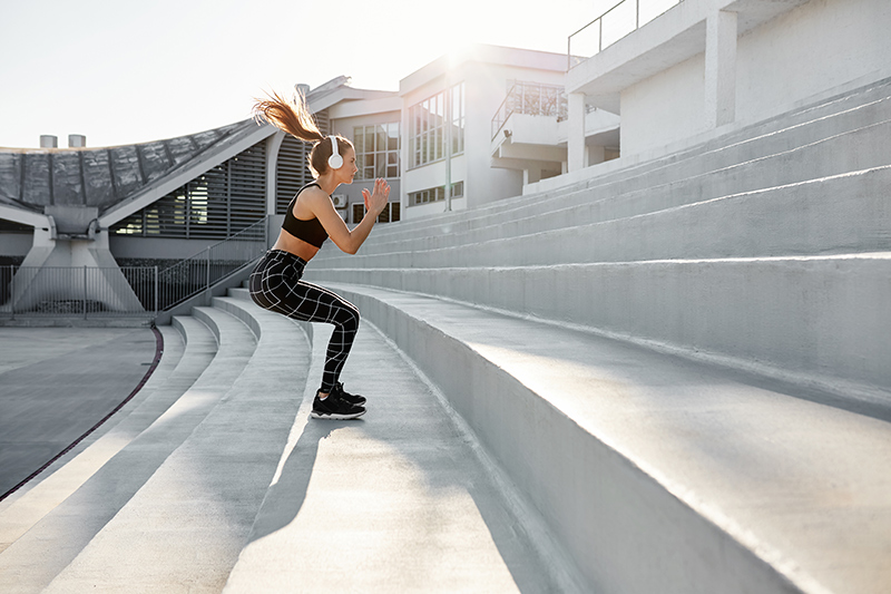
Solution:
[[[636,31],[683,0],[621,0],[570,35],[566,42],[566,68],[571,70],[623,37]]]

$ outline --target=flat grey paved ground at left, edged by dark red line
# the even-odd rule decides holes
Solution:
[[[155,349],[148,328],[0,328],[0,495],[127,398]]]

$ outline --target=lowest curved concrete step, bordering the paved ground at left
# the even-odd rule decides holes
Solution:
[[[175,328],[163,327],[158,331],[164,341],[163,357],[136,396],[77,447],[56,460],[8,502],[3,502],[0,509],[0,552],[80,488],[102,465],[154,422],[206,367],[196,364],[196,361],[189,362],[192,352],[183,361],[185,345],[182,334]],[[197,373],[190,372],[192,369]]]

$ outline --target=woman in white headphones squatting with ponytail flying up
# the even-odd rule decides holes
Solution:
[[[327,237],[347,254],[356,253],[386,207],[390,186],[383,179],[375,179],[373,192],[362,189],[365,216],[350,231],[334,208],[331,194],[339,185],[351,184],[359,171],[352,143],[320,133],[303,97],[291,104],[273,94],[270,99],[256,103],[254,114],[301,140],[315,143],[310,153],[315,182],[304,186],[291,201],[277,241],[251,273],[251,298],[261,308],[294,320],[334,324],[312,416],[354,419],[364,415],[365,398],[346,392],[339,378],[359,329],[359,310],[340,295],[301,277],[306,263]]]

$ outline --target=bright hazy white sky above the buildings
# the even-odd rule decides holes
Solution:
[[[400,79],[470,42],[566,52],[616,0],[3,0],[0,146],[134,144],[232,124],[267,89]]]

